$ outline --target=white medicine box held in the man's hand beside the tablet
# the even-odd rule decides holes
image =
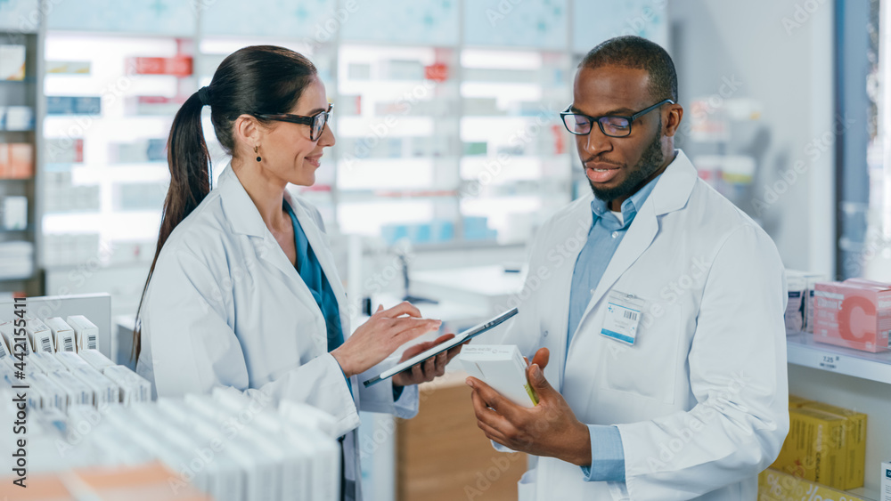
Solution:
[[[458,359],[470,376],[488,384],[513,403],[526,408],[538,405],[538,396],[526,379],[526,361],[516,344],[470,344],[462,349]]]

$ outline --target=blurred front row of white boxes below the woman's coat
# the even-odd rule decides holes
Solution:
[[[0,399],[12,400],[0,388]],[[0,419],[12,408],[0,405]],[[129,407],[73,406],[29,413],[29,471],[145,465],[160,461],[176,494],[193,487],[215,500],[339,499],[334,419],[305,404],[274,405],[234,390]],[[12,440],[0,430],[0,440]],[[0,460],[2,463],[2,460]]]

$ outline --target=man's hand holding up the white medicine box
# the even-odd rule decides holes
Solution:
[[[477,425],[489,440],[513,450],[556,457],[578,466],[591,465],[588,427],[576,419],[563,396],[544,379],[548,359],[547,348],[542,348],[526,369],[529,384],[538,395],[534,408],[520,407],[476,377],[468,377]]]

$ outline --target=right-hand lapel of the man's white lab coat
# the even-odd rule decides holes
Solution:
[[[653,243],[653,238],[656,238],[659,230],[658,216],[676,211],[687,204],[697,177],[696,168],[691,164],[690,159],[683,154],[683,151],[676,150],[674,161],[666,168],[656,187],[653,188],[653,192],[650,193],[650,197],[634,216],[634,222],[631,223],[625,238],[616,249],[616,254],[609,261],[606,271],[603,272],[603,277],[597,284],[597,288],[594,289],[591,301],[588,303],[582,319],[578,322],[573,342],[584,325],[584,320],[601,302],[603,296],[612,289],[625,271],[650,248],[650,244]],[[634,290],[621,292],[634,294]]]

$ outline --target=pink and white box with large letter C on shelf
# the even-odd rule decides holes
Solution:
[[[863,352],[888,350],[891,284],[864,279],[814,286],[813,340]]]

